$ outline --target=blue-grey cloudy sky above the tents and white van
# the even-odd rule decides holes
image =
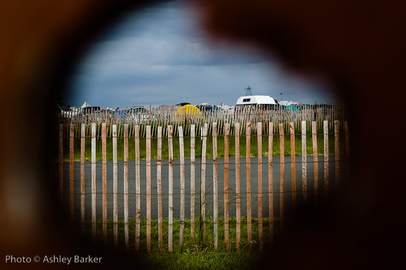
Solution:
[[[90,48],[70,82],[70,106],[131,107],[207,102],[245,95],[333,103],[322,86],[293,77],[272,56],[212,41],[192,7],[178,1],[129,12]]]

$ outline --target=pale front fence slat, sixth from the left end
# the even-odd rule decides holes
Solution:
[[[113,130],[113,238],[114,246],[118,247],[118,198],[117,198],[117,125]]]

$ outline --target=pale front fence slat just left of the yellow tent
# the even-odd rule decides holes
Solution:
[[[173,199],[174,199],[174,149],[172,143],[172,125],[168,125],[168,151],[169,151],[169,190],[168,190],[168,251],[173,251]]]

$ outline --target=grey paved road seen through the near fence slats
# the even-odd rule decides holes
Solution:
[[[341,175],[345,173],[345,157],[340,157],[341,159]],[[308,176],[308,200],[312,199],[313,192],[313,157],[308,157],[307,166],[307,176]],[[319,156],[319,190],[324,190],[324,157]],[[262,158],[262,213],[263,217],[268,217],[268,158]],[[273,178],[274,178],[274,215],[279,216],[279,186],[280,186],[280,158],[274,157],[273,166]],[[140,166],[141,174],[141,216],[146,217],[146,161],[142,160]],[[241,215],[247,214],[247,199],[246,199],[246,160],[245,158],[240,158],[240,178],[241,178]],[[190,160],[185,160],[185,215],[190,217]],[[75,218],[80,218],[80,163],[75,162]],[[129,205],[129,217],[135,217],[136,213],[136,186],[135,186],[135,161],[129,161],[128,165],[128,205]],[[123,161],[118,162],[118,215],[120,218],[124,217],[123,211]],[[200,159],[196,159],[196,192],[200,192]],[[58,175],[57,166],[54,168],[54,173],[56,178]],[[301,190],[302,190],[302,167],[301,167],[301,157],[296,157],[296,190],[297,192],[297,202],[301,201]],[[63,190],[64,192],[69,192],[69,163],[63,164]],[[86,201],[86,219],[91,218],[91,163],[86,162],[85,165],[85,191],[87,195],[85,196]],[[252,207],[252,217],[257,217],[257,158],[251,158],[251,207]],[[334,156],[329,156],[329,183],[330,190],[334,189],[335,183],[335,166],[334,166]],[[219,192],[219,214],[223,216],[223,205],[224,205],[224,159],[218,159],[218,192]],[[290,157],[285,157],[285,181],[284,181],[284,206],[285,209],[290,209],[291,207],[291,163]],[[96,192],[102,192],[102,169],[101,161],[96,164]],[[108,161],[107,163],[107,207],[108,207],[108,218],[113,217],[113,163]],[[121,194],[120,194],[121,192]],[[162,209],[163,217],[168,215],[168,161],[162,161]],[[179,160],[174,161],[174,217],[180,217],[180,166]],[[209,192],[206,199],[207,208],[213,206],[213,159],[207,159],[206,166],[206,192]],[[229,216],[235,216],[235,159],[229,159]],[[152,219],[157,219],[157,184],[156,184],[156,160],[152,161],[151,168],[151,205],[152,205]],[[323,192],[320,192],[323,194]],[[96,196],[96,215],[97,218],[102,217],[102,195],[97,194]],[[64,195],[64,205],[69,206],[69,195]],[[199,194],[195,197],[195,210],[196,213],[199,209]]]

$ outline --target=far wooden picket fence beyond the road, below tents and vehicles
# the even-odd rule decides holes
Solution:
[[[344,126],[344,121],[349,121],[350,115],[346,104],[313,104],[296,106],[298,111],[286,110],[279,105],[273,105],[265,108],[263,105],[241,110],[216,110],[203,111],[201,113],[181,113],[178,111],[159,111],[153,108],[149,112],[133,114],[127,113],[128,109],[115,109],[114,113],[109,109],[100,111],[90,111],[87,114],[66,114],[59,116],[57,124],[63,124],[65,129],[64,137],[68,137],[68,129],[74,125],[74,133],[79,136],[82,124],[85,124],[85,136],[90,136],[91,123],[96,124],[96,138],[101,136],[101,124],[106,123],[109,127],[106,130],[106,136],[112,137],[113,125],[117,125],[117,136],[123,137],[124,125],[129,127],[129,133],[133,134],[134,126],[139,125],[140,137],[146,137],[146,127],[151,126],[151,138],[157,138],[157,127],[162,127],[162,134],[167,134],[168,126],[173,126],[173,136],[178,136],[178,127],[182,126],[185,131],[184,136],[190,136],[190,126],[195,125],[195,136],[201,136],[205,124],[208,125],[208,135],[212,135],[213,126],[211,123],[217,123],[218,135],[224,136],[225,124],[231,123],[231,129],[234,129],[234,123],[240,124],[240,135],[245,134],[247,125],[252,123],[252,134],[257,134],[256,123],[262,123],[262,134],[268,133],[268,123],[273,123],[274,132],[277,131],[278,123],[284,123],[285,133],[289,132],[289,123],[293,122],[296,129],[300,129],[301,121],[306,121],[307,128],[311,128],[312,121],[316,120],[317,128],[323,126],[323,121],[328,121],[329,129],[333,129],[333,122],[339,121],[340,127]]]

